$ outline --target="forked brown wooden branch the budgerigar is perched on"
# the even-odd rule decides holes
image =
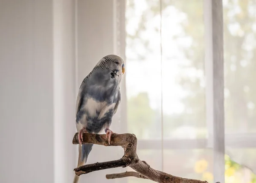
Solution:
[[[186,179],[167,174],[163,171],[151,168],[148,163],[141,161],[137,156],[137,138],[134,134],[112,134],[111,145],[108,144],[108,139],[105,134],[83,134],[84,140],[82,144],[90,143],[105,146],[122,146],[124,149],[124,156],[119,160],[113,160],[102,163],[93,163],[89,165],[75,168],[77,175],[87,174],[92,171],[103,170],[108,168],[126,167],[130,166],[137,172],[124,172],[119,174],[108,174],[108,179],[121,177],[138,177],[153,180],[157,183],[207,183],[207,181]],[[79,144],[78,133],[73,138],[73,144]]]

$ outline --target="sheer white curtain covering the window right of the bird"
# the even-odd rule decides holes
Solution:
[[[226,183],[249,183],[256,173],[256,1],[224,0],[218,9],[224,21],[224,73],[214,74],[206,41],[209,30],[218,29],[209,27],[211,2],[127,0],[127,130],[137,135],[138,154],[153,168],[222,183],[214,168],[220,166]],[[219,121],[212,124],[207,110],[223,93],[206,87],[221,74],[224,110],[215,115],[224,113],[225,134],[216,137]],[[221,146],[224,139],[225,152],[218,152],[212,142]]]

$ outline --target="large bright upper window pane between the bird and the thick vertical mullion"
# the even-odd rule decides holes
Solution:
[[[126,10],[128,130],[160,138],[160,3],[128,0]],[[206,137],[203,21],[203,0],[163,3],[165,138]]]

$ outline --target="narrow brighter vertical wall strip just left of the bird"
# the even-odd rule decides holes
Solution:
[[[54,176],[55,183],[72,183],[76,167],[75,1],[53,1],[54,52]]]

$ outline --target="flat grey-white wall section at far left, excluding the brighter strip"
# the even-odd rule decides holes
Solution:
[[[52,183],[52,1],[0,1],[0,182]]]

